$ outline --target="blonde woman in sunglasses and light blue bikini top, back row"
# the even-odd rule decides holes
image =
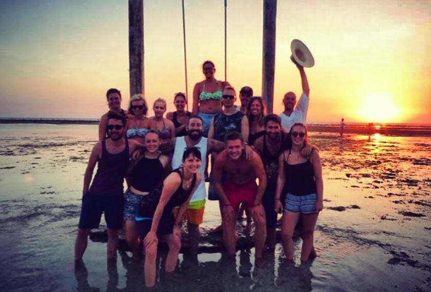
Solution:
[[[126,124],[126,137],[135,139],[141,144],[144,143],[144,136],[147,133],[147,112],[148,105],[142,94],[134,94],[130,98],[129,110]]]

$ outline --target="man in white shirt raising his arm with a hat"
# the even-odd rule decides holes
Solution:
[[[294,59],[292,62],[298,67],[301,75],[302,94],[297,104],[297,96],[292,91],[286,92],[283,98],[284,111],[280,113],[281,125],[289,130],[294,123],[306,124],[307,110],[309,103],[310,87],[308,86],[307,75],[304,67],[299,65]],[[295,107],[296,105],[296,107]]]

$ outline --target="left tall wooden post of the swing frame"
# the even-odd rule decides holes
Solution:
[[[143,0],[129,0],[129,80],[130,96],[145,94]]]

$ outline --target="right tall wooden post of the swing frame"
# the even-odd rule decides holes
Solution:
[[[273,113],[276,60],[277,0],[263,0],[262,97],[267,113]]]

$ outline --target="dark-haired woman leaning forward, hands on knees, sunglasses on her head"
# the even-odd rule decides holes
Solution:
[[[144,238],[145,248],[145,285],[155,285],[157,237],[163,236],[169,247],[166,258],[166,272],[173,272],[181,248],[182,218],[187,210],[193,192],[200,184],[200,151],[196,147],[187,148],[183,153],[183,165],[174,169],[166,177],[163,185],[144,197],[140,205],[138,229]],[[176,216],[173,208],[179,206]]]

